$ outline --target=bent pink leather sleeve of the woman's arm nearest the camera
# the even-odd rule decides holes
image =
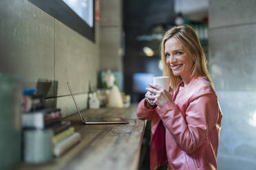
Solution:
[[[218,108],[217,97],[206,94],[190,101],[185,117],[173,102],[159,108],[158,114],[179,147],[192,153],[217,123]]]

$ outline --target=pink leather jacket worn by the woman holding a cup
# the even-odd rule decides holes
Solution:
[[[149,110],[140,101],[138,119],[151,120],[150,169],[217,169],[222,111],[205,77],[178,89],[169,104]],[[166,128],[164,128],[164,125]]]

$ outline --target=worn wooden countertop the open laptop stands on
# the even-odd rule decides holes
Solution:
[[[21,163],[15,169],[138,169],[146,121],[136,119],[137,106],[132,104],[129,108],[100,108],[82,112],[95,117],[123,117],[129,124],[84,125],[78,114],[65,118],[71,121],[76,132],[81,133],[81,143],[51,162],[43,165]]]

